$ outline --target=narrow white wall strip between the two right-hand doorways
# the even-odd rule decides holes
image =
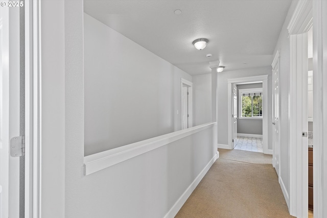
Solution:
[[[287,26],[294,12],[297,1],[293,1],[288,11],[287,17],[284,21],[283,28],[279,34],[279,38],[274,50],[273,55],[277,51],[281,53],[280,57],[280,69],[279,69],[279,122],[281,129],[281,163],[279,167],[281,169],[281,179],[285,185],[287,193],[290,191],[290,165],[289,165],[289,84],[290,84],[290,43]],[[269,123],[269,122],[268,122]],[[289,205],[289,199],[285,197],[287,204]]]

